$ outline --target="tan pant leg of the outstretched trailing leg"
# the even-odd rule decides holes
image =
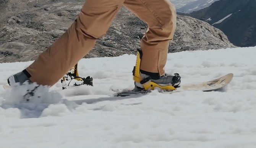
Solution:
[[[26,70],[30,80],[54,85],[106,34],[124,0],[87,0],[76,21]]]

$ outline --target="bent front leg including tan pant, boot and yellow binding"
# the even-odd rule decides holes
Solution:
[[[124,5],[149,26],[133,72],[136,88],[175,90],[181,77],[164,71],[169,41],[176,28],[175,7],[169,0],[125,0]]]

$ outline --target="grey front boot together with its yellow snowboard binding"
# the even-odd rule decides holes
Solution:
[[[173,75],[165,74],[159,76],[158,73],[151,73],[140,70],[142,52],[138,50],[136,58],[136,66],[133,69],[133,80],[136,88],[143,90],[154,90],[160,88],[161,90],[172,91],[180,87],[181,77],[175,73]]]

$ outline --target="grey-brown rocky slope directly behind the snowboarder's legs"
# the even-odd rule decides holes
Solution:
[[[84,0],[0,0],[0,62],[34,60],[76,19]],[[147,24],[122,8],[89,57],[135,54]],[[234,47],[220,31],[198,19],[177,17],[169,52]]]

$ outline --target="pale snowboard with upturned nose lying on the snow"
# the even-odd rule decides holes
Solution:
[[[174,92],[180,92],[182,90],[183,91],[203,91],[203,92],[217,91],[225,87],[226,85],[228,85],[231,82],[232,78],[233,78],[233,74],[230,73],[210,81],[206,81],[198,84],[182,85],[181,87],[178,87],[177,90],[174,90]],[[148,92],[151,92],[151,91],[134,88],[133,90],[122,90],[118,92],[115,96],[126,97],[134,94],[145,94]],[[170,92],[173,92],[173,91],[170,91]]]

